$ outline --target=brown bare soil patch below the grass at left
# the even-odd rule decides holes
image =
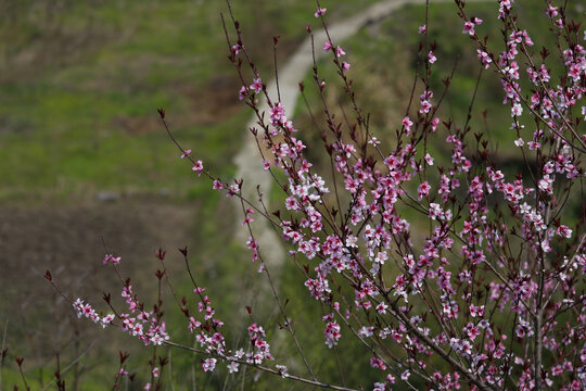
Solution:
[[[86,345],[112,338],[90,321],[78,321],[44,272],[51,270],[67,295],[105,308],[102,292],[119,298],[122,282],[112,267],[102,266],[103,237],[110,252],[122,256],[123,278],[131,275],[137,291],[155,294],[156,289],[140,289],[156,283],[155,252],[168,250],[169,269],[183,267],[177,249],[193,244],[196,206],[155,198],[0,207],[0,332],[8,321],[12,354],[48,361],[58,352],[75,355],[72,349],[84,349],[72,336]]]

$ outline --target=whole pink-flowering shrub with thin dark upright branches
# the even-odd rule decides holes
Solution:
[[[500,0],[496,17],[501,22],[504,46],[498,50],[492,38],[479,35],[483,21],[468,13],[466,2],[456,0],[456,5],[462,34],[471,38],[480,66],[500,78],[502,104],[510,108],[511,131],[517,134],[514,148],[526,164],[523,173],[506,174],[509,167],[499,165],[485,135],[472,133],[470,115],[463,127],[444,117],[440,109],[446,91],[430,87],[437,54],[425,21],[418,31],[422,37],[419,74],[391,149],[369,128],[348,77],[351,63],[344,49],[329,34],[324,42],[311,40],[313,76],[326,116],[322,140],[332,166],[331,178],[324,179],[305,157],[306,144],[297,135],[302,133],[279,97],[268,94],[265,78],[242,41],[240,24],[231,15],[237,38],[232,41],[227,31],[229,58],[242,85],[234,93],[257,116],[251,133],[263,156],[258,164],[284,192],[284,207],[269,214],[262,198],[256,202],[244,197],[242,181],[215,177],[174,138],[165,111],[158,113],[181,159],[191,162],[198,176],[207,178],[214,189],[240,202],[242,224],[250,231],[246,247],[273,288],[281,328],[288,330],[305,369],[293,374],[282,365],[250,307],[247,343],[230,348],[225,331],[230,325],[216,316],[213,300],[196,283],[187,249],[181,253],[195,303],[173,294],[198,345],[175,341],[163,320],[161,299],[149,310],[130,280],[120,277],[120,257],[106,248],[104,264],[116,270],[126,307],[115,308],[110,295],[104,297],[111,307],[107,314],[80,299],[67,300],[79,317],[102,327],[119,327],[155,346],[145,389],[162,384],[160,373],[166,363],[161,357],[157,362],[156,346],[163,344],[203,354],[204,371],[214,371],[220,364],[230,374],[251,366],[336,390],[586,388],[584,205],[577,206],[579,216],[571,212],[584,191],[586,135],[581,125],[586,108],[579,101],[586,88],[586,50],[578,43],[583,33],[579,24],[565,16],[564,5],[546,1],[544,12],[551,20],[557,45],[536,49],[531,31],[518,21],[513,1]],[[318,2],[315,17],[328,31],[326,16],[327,10]],[[307,31],[313,38],[309,27]],[[352,101],[354,123],[340,121],[330,109],[329,85],[315,50],[331,54]],[[562,70],[561,74],[555,74],[556,70]],[[446,89],[450,79],[445,79]],[[300,88],[304,91],[305,86]],[[268,112],[259,109],[260,99],[268,103]],[[431,143],[449,148],[447,164],[432,154]],[[278,173],[284,174],[284,181]],[[420,218],[407,217],[413,215],[409,211]],[[341,339],[352,339],[364,346],[369,352],[365,364],[380,373],[378,382],[334,384],[319,378],[296,339],[305,330],[294,325],[275,288],[264,261],[270,254],[263,252],[252,229],[255,218],[279,228],[292,262],[304,260],[306,266],[300,269],[306,300],[326,308],[323,343],[335,350]],[[157,257],[162,264],[158,289],[164,281],[173,289],[165,252],[158,251]],[[46,277],[59,291],[51,274]],[[125,360],[120,355],[116,379],[128,375]],[[340,370],[343,379],[344,368]]]

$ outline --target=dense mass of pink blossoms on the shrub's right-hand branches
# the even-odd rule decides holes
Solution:
[[[536,324],[537,316],[555,319],[566,308],[584,303],[584,297],[572,287],[572,281],[581,276],[577,268],[583,268],[578,261],[584,258],[583,243],[576,243],[568,224],[551,218],[553,211],[563,206],[557,201],[563,186],[560,184],[584,175],[579,167],[581,150],[575,148],[583,146],[584,139],[572,134],[577,123],[571,117],[572,108],[584,93],[578,83],[584,79],[584,49],[569,41],[571,48],[560,50],[568,74],[561,84],[552,86],[552,71],[545,62],[534,62],[530,52],[533,39],[515,24],[512,1],[499,1],[498,17],[504,21],[507,34],[505,49],[498,55],[479,38],[476,29],[482,27],[483,20],[467,16],[464,3],[457,1],[457,4],[464,22],[462,33],[477,43],[481,65],[494,68],[499,75],[504,104],[510,108],[513,119],[511,128],[519,135],[515,146],[527,148],[525,154],[539,155],[533,180],[521,176],[508,178],[501,167],[482,159],[488,153],[487,142],[480,142],[482,136],[479,144],[484,147],[471,150],[468,129],[455,128],[450,122],[440,119],[441,100],[429,85],[419,96],[417,112],[408,113],[398,124],[402,139],[397,148],[386,154],[372,135],[361,139],[355,135],[344,137],[340,131],[342,124],[326,109],[330,136],[322,138],[343,186],[336,188],[336,199],[317,173],[317,165],[304,156],[305,146],[293,136],[296,130],[280,102],[269,103],[269,123],[263,121],[263,113],[257,113],[265,131],[254,135],[263,150],[272,153],[270,159],[265,156],[265,169],[280,168],[286,175],[288,186],[282,188],[289,214],[279,215],[279,224],[292,249],[290,253],[301,255],[311,265],[306,268],[308,293],[336,308],[322,318],[329,348],[337,344],[343,327],[347,326],[372,349],[378,346],[388,352],[388,346],[380,342],[388,340],[403,350],[404,354],[371,357],[370,365],[390,370],[387,375],[393,379],[396,376],[409,381],[417,374],[444,389],[457,389],[461,377],[466,377],[475,387],[489,388],[504,387],[505,379],[514,374],[521,389],[534,387],[536,376],[550,386],[551,379],[560,377],[562,371],[556,369],[553,374],[540,366],[543,355],[553,354],[560,348],[552,342],[557,340],[555,336],[570,332],[581,341],[586,337],[584,328],[576,329],[584,320],[583,314],[565,326]],[[558,8],[549,4],[547,15],[557,17]],[[315,16],[321,16],[319,10]],[[566,22],[560,17],[556,23],[563,26]],[[428,34],[426,25],[419,33]],[[352,84],[343,73],[347,67],[340,63],[346,52],[330,36],[323,50],[332,52],[332,61],[353,97]],[[433,50],[424,53],[430,65],[436,63]],[[523,61],[519,55],[523,55]],[[521,64],[528,64],[525,77],[534,86],[528,100],[521,88],[524,77]],[[317,87],[324,90],[326,80],[316,67],[314,72]],[[259,84],[258,74],[254,81]],[[254,101],[251,106],[255,110]],[[525,134],[523,122],[530,115],[536,118],[537,126],[525,142],[521,135]],[[356,116],[353,131],[366,125],[359,111]],[[442,128],[440,124],[445,126]],[[445,142],[451,151],[448,164],[426,148],[428,138],[436,133],[447,134]],[[433,180],[431,167],[436,166],[438,180]],[[346,191],[342,201],[341,190]],[[429,235],[411,228],[405,214],[409,201],[428,217]],[[506,206],[495,214],[495,205]],[[565,244],[560,244],[564,241]],[[572,272],[569,273],[566,265],[553,262],[550,270],[542,272],[536,278],[539,263],[552,262],[549,254],[560,254],[561,245],[575,252],[565,256],[574,260]],[[254,249],[254,257],[258,257],[258,243],[252,237],[249,247]],[[517,254],[512,248],[519,249]],[[347,280],[354,291],[353,304],[343,299],[345,308],[334,301],[336,293],[331,287],[339,279]],[[487,298],[479,290],[482,285],[487,287]],[[552,298],[563,300],[555,302]],[[366,316],[359,316],[360,313]],[[498,314],[505,313],[515,314],[514,319],[500,319]],[[520,356],[519,346],[531,345],[536,338],[544,340],[540,356]],[[564,354],[572,356],[578,350],[579,343],[574,343],[568,345]],[[458,368],[451,355],[466,360],[466,370]],[[409,363],[411,369],[392,368],[387,362],[393,360]],[[436,370],[426,378],[422,374],[429,371],[428,366],[435,366],[436,360],[447,361],[458,370]],[[576,375],[569,376],[573,380],[566,383],[568,389],[575,381],[584,381],[585,364],[572,371]],[[537,375],[531,369],[535,365],[539,367]],[[392,383],[385,379],[375,388],[390,388]]]

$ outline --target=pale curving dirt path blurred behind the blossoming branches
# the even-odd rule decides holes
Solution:
[[[356,34],[360,27],[379,22],[387,17],[392,12],[407,3],[424,3],[424,0],[386,0],[380,1],[361,13],[354,15],[349,18],[339,21],[328,27],[332,41],[337,45],[341,41]],[[323,29],[314,31],[316,42],[316,55],[319,59],[323,58],[326,53],[321,50],[321,46],[327,40],[327,35]],[[307,72],[311,68],[311,40],[307,37],[300,46],[297,51],[291,55],[291,58],[284,63],[284,66],[279,68],[279,89],[281,93],[281,103],[285,109],[288,116],[292,116],[295,112],[295,104],[298,100],[300,89],[298,83],[303,80]],[[267,84],[268,93],[277,99],[277,84],[275,79],[271,79]],[[260,112],[268,112],[269,108],[266,101],[262,101],[259,105]],[[254,115],[246,129],[256,126],[257,118]],[[237,178],[244,179],[243,192],[250,200],[256,200],[256,185],[260,186],[260,191],[268,197],[270,193],[272,179],[270,175],[264,171],[262,164],[262,157],[256,147],[254,137],[246,131],[246,139],[240,152],[234,159],[234,163],[238,166]],[[237,205],[238,216],[242,215],[240,203]],[[277,234],[269,227],[267,222],[257,218],[254,223],[255,236],[260,243],[263,254],[265,255],[265,262],[271,270],[278,270],[278,266],[284,263],[285,252],[281,245],[281,241]],[[246,229],[243,229],[240,219],[237,228],[237,239],[243,242],[249,237]]]

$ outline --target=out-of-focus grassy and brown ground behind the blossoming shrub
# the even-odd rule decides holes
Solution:
[[[328,9],[328,21],[336,23],[373,2],[321,4]],[[528,7],[528,0],[519,3],[530,27],[548,28],[543,7]],[[284,63],[305,38],[305,25],[319,28],[311,1],[233,0],[232,5],[245,46],[267,80],[272,75],[272,37],[281,37],[278,58]],[[481,33],[497,34],[497,5],[469,7],[485,21],[477,28]],[[9,349],[2,386],[18,382],[13,358],[24,356],[34,389],[42,389],[59,354],[62,366],[75,363],[67,371],[71,389],[111,387],[118,350],[131,352],[129,371],[141,381],[148,379],[150,350],[118,330],[77,319],[42,278],[46,269],[52,270],[67,295],[85,298],[105,311],[102,292],[119,297],[122,287],[112,269],[101,266],[102,237],[110,251],[122,256],[123,276],[132,277],[136,292],[146,302],[156,294],[154,273],[160,265],[154,254],[160,247],[168,252],[177,289],[189,293],[177,251],[187,245],[192,269],[208,287],[219,318],[238,321],[245,304],[273,305],[268,300],[242,303],[243,292],[258,287],[257,266],[251,266],[247,251],[232,239],[238,217],[230,202],[180,161],[156,113],[165,108],[177,139],[215,175],[227,179],[234,175],[232,156],[246,137],[251,112],[238,100],[240,83],[227,60],[220,12],[227,13],[221,0],[0,0],[0,331]],[[421,39],[417,28],[423,21],[423,7],[406,5],[344,43],[358,101],[371,113],[372,129],[383,147],[393,143],[405,113]],[[461,34],[451,3],[432,1],[429,28],[438,58],[433,89],[441,90],[442,78],[457,60],[444,113],[463,125],[480,72],[475,48]],[[233,37],[232,29],[230,34]],[[540,48],[540,37],[533,39]],[[495,50],[499,45],[495,41]],[[335,86],[334,70],[327,61],[322,64],[322,74]],[[313,86],[310,75],[305,84]],[[320,105],[315,89],[308,90],[319,123]],[[476,99],[475,130],[502,146],[501,159],[519,164],[510,148],[517,136],[510,134],[508,109],[500,104],[500,84],[488,72]],[[328,91],[328,100],[334,108],[348,103],[335,88]],[[293,116],[319,167],[319,130],[304,104]],[[433,147],[437,153],[442,148]],[[275,205],[281,198],[272,194]],[[280,278],[283,298],[306,298],[303,276],[294,265],[283,267]],[[290,311],[297,327],[321,330],[319,305],[295,300]],[[171,300],[166,311],[171,336],[191,344]],[[267,316],[269,335],[284,332],[276,319]],[[339,381],[321,331],[300,336],[321,378]],[[230,337],[235,345],[244,335],[234,330]],[[277,357],[292,355],[291,349],[283,342]],[[369,352],[359,346],[342,341],[340,349],[368,361]],[[164,376],[178,389],[232,389],[246,383],[246,389],[262,390],[272,381],[253,371],[229,376],[224,365],[214,375],[203,375],[201,357],[160,354],[171,355],[173,370]],[[345,358],[348,384],[371,387],[377,374],[362,362],[348,360],[352,354]],[[294,361],[290,365],[295,368]]]

